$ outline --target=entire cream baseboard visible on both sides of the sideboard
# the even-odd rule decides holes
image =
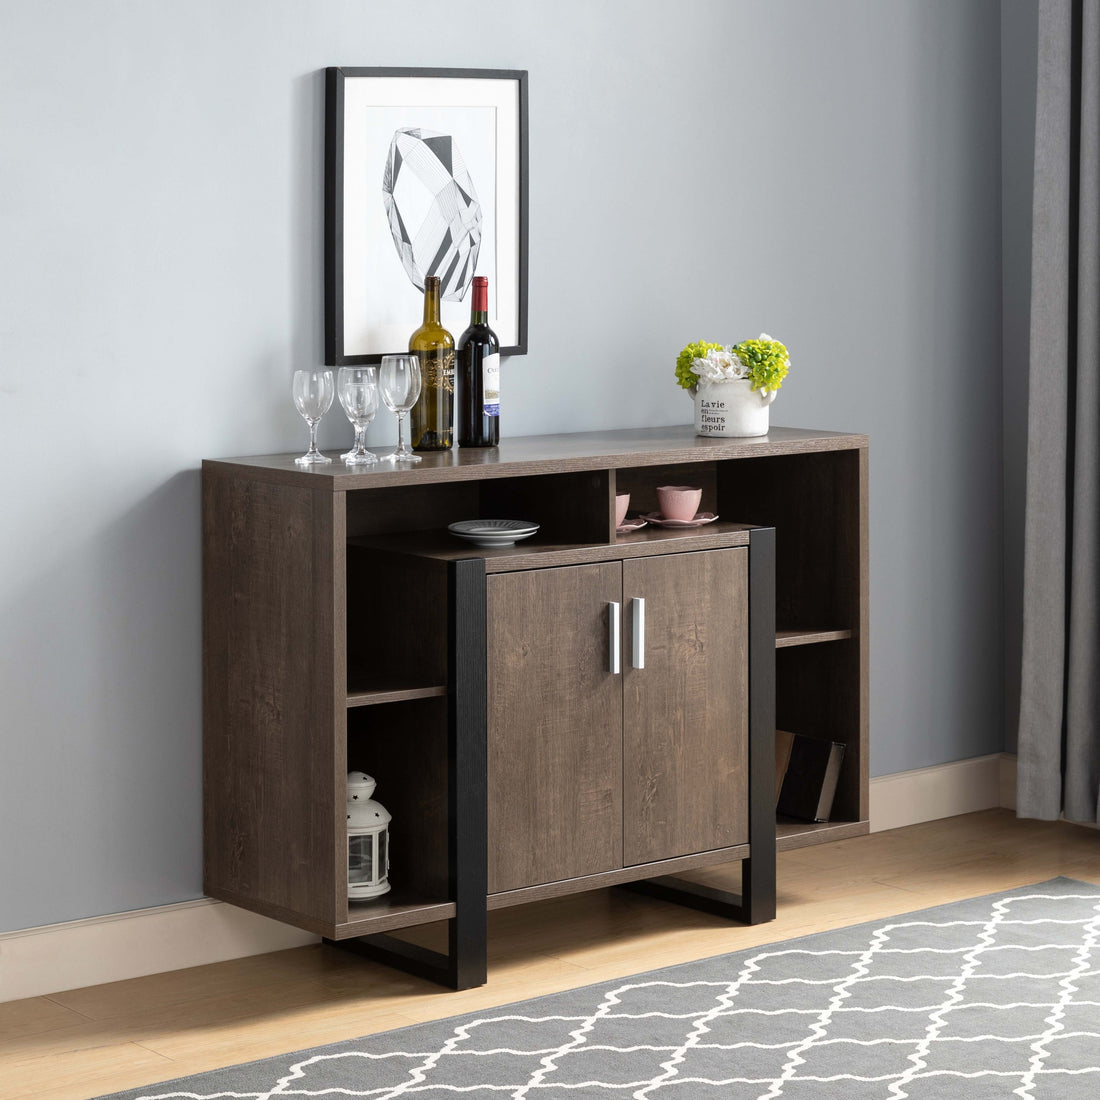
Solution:
[[[871,832],[1015,806],[1014,756],[996,754],[871,780]],[[0,933],[0,1001],[263,955],[318,937],[204,898]]]

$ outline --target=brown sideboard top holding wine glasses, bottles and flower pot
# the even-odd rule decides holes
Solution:
[[[777,427],[767,436],[728,439],[696,436],[693,427],[684,425],[584,431],[564,436],[520,436],[503,439],[501,446],[495,448],[455,448],[452,451],[424,452],[422,462],[414,466],[399,464],[396,469],[389,463],[366,468],[346,466],[339,458],[330,465],[302,469],[295,465],[295,454],[207,459],[202,468],[231,476],[341,493],[354,488],[846,451],[862,447],[867,447],[866,436],[840,431]]]

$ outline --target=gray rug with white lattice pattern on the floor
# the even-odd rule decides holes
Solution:
[[[110,1100],[306,1096],[1091,1100],[1100,887],[1054,879]]]

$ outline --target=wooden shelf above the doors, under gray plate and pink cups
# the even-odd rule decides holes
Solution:
[[[431,558],[436,561],[484,558],[486,573],[510,573],[526,569],[582,565],[587,562],[620,561],[624,558],[646,558],[651,554],[748,546],[749,530],[748,524],[718,520],[706,527],[686,530],[644,527],[640,531],[618,536],[614,542],[606,543],[540,542],[539,536],[536,535],[515,546],[499,549],[476,547],[446,530],[369,535],[351,538],[348,542],[350,546],[369,550],[386,550],[418,558]]]

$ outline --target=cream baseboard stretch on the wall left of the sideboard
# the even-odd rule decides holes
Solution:
[[[0,1001],[316,944],[318,937],[201,898],[0,933]]]

